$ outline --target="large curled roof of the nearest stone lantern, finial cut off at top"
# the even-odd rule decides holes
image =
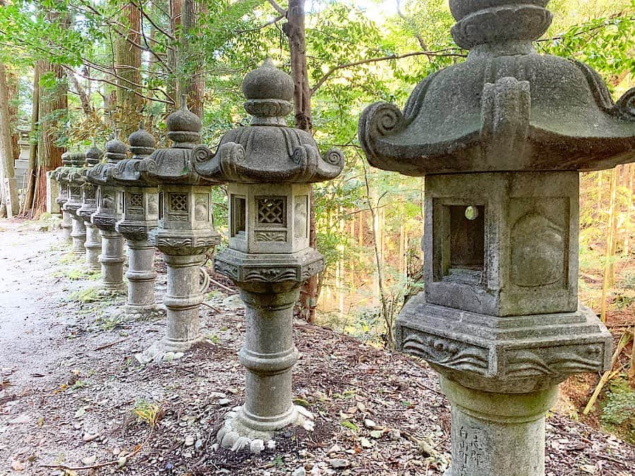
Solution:
[[[425,78],[404,111],[368,107],[359,139],[373,166],[422,176],[591,171],[632,160],[635,89],[614,103],[600,75],[540,55],[548,0],[450,0],[467,61]]]

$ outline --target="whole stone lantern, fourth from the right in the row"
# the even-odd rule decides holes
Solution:
[[[123,187],[123,218],[115,228],[128,241],[128,303],[122,311],[130,319],[159,312],[155,304],[155,248],[147,240],[159,220],[159,190],[143,181],[138,170],[140,161],[155,151],[155,138],[139,128],[130,135],[128,143],[132,159],[120,161],[109,171],[111,181]]]

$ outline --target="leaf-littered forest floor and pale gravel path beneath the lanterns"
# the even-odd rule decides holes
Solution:
[[[315,414],[315,431],[280,432],[276,447],[257,456],[214,451],[224,414],[244,398],[238,296],[210,290],[205,342],[179,360],[140,365],[134,354],[162,336],[164,322],[111,319],[123,298],[85,302],[98,281],[59,231],[20,221],[0,221],[0,231],[0,476],[303,474],[299,468],[408,476],[447,468],[449,404],[435,372],[303,322],[294,325],[294,393]],[[164,269],[159,255],[157,267]],[[159,274],[159,298],[164,289]],[[635,474],[633,446],[557,410],[546,449],[551,476]],[[73,469],[80,467],[89,468]]]

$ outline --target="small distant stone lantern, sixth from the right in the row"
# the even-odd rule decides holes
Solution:
[[[99,164],[102,158],[102,151],[92,145],[86,151],[86,167],[82,169],[85,177],[88,171],[95,165]],[[99,271],[99,252],[102,250],[102,239],[99,237],[99,229],[90,221],[90,216],[97,212],[97,185],[85,181],[82,185],[82,206],[78,209],[77,214],[84,220],[86,227],[86,241],[84,248],[86,249],[86,265],[88,269]]]

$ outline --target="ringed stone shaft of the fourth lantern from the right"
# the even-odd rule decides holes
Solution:
[[[126,312],[155,310],[155,248],[147,240],[128,240]]]

